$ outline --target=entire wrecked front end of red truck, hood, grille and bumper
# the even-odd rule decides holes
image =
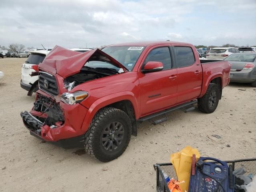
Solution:
[[[36,101],[30,112],[21,112],[23,123],[30,134],[47,142],[72,140],[68,144],[78,146],[84,141],[82,124],[88,112],[82,102],[90,93],[81,85],[99,78],[128,70],[101,50],[77,53],[59,46],[46,56],[38,66]],[[79,88],[79,86],[81,86]],[[32,89],[28,95],[32,95]]]

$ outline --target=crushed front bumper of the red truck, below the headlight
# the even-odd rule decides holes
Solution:
[[[38,92],[41,91],[39,90]],[[38,93],[36,93],[37,99]],[[36,111],[35,105],[30,112],[21,112],[20,116],[31,135],[63,148],[78,147],[84,141],[84,132],[82,132],[81,127],[87,113],[87,108],[80,104],[68,105],[63,102],[58,104],[64,114],[64,123],[62,124],[56,122],[55,125],[51,126],[48,123],[48,117],[51,118],[52,114]]]

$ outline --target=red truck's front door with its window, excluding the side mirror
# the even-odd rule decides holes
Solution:
[[[164,69],[143,74],[138,72],[140,82],[141,116],[173,106],[177,102],[177,69],[169,46],[153,46],[144,57],[139,70],[149,61],[162,62]]]

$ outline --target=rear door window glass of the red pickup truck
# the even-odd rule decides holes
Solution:
[[[190,66],[196,61],[191,47],[174,47],[174,53],[179,68]]]

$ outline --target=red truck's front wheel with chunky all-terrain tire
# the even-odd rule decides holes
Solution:
[[[102,162],[118,158],[126,150],[132,134],[128,115],[117,108],[99,110],[85,133],[84,149]]]

